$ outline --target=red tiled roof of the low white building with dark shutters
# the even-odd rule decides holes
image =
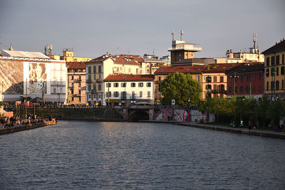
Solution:
[[[108,75],[104,81],[152,81],[155,75]]]

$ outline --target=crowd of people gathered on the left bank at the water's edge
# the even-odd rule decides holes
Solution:
[[[19,127],[22,125],[38,125],[43,122],[56,120],[53,117],[47,117],[45,119],[36,118],[35,115],[14,115],[13,117],[1,117],[0,129]]]

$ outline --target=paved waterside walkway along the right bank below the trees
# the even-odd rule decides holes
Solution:
[[[248,130],[247,128],[227,127],[227,126],[222,126],[222,125],[199,124],[195,122],[162,121],[162,120],[152,120],[152,121],[144,120],[142,122],[165,122],[165,123],[172,123],[174,125],[197,127],[197,128],[207,129],[207,130],[219,130],[219,131],[234,132],[234,133],[239,133],[239,134],[249,134],[249,135],[262,136],[262,137],[273,137],[273,138],[285,139],[285,132],[275,132],[275,131],[257,130],[257,129]]]

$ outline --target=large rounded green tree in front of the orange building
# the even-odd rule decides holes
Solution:
[[[199,101],[202,88],[191,75],[173,73],[163,80],[161,91],[163,104],[171,104],[171,100],[174,99],[176,105],[188,105],[190,97],[190,103],[195,105]]]

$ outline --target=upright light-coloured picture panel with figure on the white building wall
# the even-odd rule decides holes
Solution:
[[[28,63],[28,93],[46,92],[46,65],[44,63]]]

